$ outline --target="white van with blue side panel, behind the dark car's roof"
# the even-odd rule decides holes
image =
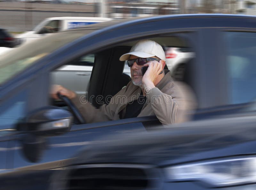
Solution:
[[[49,33],[72,29],[80,26],[95,24],[98,22],[109,21],[111,18],[101,17],[52,17],[47,18],[38,24],[32,31],[25,32],[16,36],[22,43],[35,40]]]

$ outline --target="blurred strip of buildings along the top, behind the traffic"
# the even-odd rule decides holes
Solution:
[[[132,18],[165,14],[256,15],[256,0],[0,0],[0,26],[30,31],[49,17]]]

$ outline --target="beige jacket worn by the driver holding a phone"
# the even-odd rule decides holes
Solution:
[[[165,71],[166,74],[156,87],[146,94],[147,102],[138,117],[156,115],[165,125],[188,120],[187,112],[194,107],[192,95],[184,84],[176,84],[168,71]],[[72,102],[82,113],[86,123],[119,120],[125,114],[126,105],[138,99],[140,92],[141,88],[131,81],[111,98],[108,105],[104,104],[99,109],[94,108],[90,102],[84,102],[81,97],[76,97]]]

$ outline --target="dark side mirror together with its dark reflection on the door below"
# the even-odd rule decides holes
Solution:
[[[71,122],[71,113],[55,106],[30,113],[17,125],[17,130],[24,132],[20,139],[23,155],[30,162],[38,162],[47,149],[47,137],[68,132]]]

